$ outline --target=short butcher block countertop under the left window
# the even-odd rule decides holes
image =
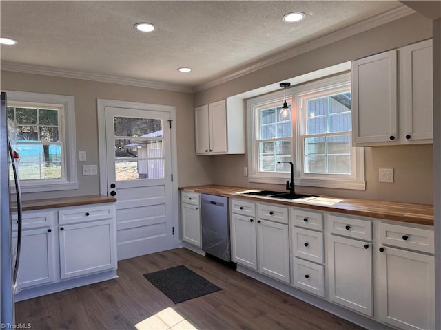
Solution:
[[[91,205],[101,203],[115,202],[116,198],[107,197],[104,195],[88,195],[79,197],[61,197],[50,199],[36,199],[33,201],[23,201],[22,210],[43,210],[45,208],[65,208],[67,206],[79,206],[79,205]],[[12,209],[16,209],[17,206],[12,206]]]

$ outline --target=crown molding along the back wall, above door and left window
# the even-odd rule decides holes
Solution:
[[[102,74],[88,74],[85,72],[74,72],[62,69],[52,69],[50,67],[41,67],[36,65],[23,65],[10,62],[1,62],[1,69],[4,71],[21,72],[24,74],[42,74],[44,76],[56,76],[63,78],[74,78],[83,80],[99,81],[100,83],[111,83],[130,85],[136,87],[147,87],[154,89],[163,89],[166,91],[181,91],[184,93],[193,93],[192,87],[184,87],[180,85],[157,83],[149,80],[121,78],[115,76],[105,76]]]

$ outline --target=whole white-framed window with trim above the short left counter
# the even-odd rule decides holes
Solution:
[[[74,98],[7,91],[22,192],[78,188]]]

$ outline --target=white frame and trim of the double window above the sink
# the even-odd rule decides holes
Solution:
[[[336,76],[319,78],[313,82],[306,82],[287,89],[287,100],[291,102],[291,120],[293,124],[293,136],[291,140],[291,162],[294,163],[294,183],[298,186],[314,186],[321,188],[342,188],[353,190],[365,190],[365,159],[364,148],[351,146],[351,175],[304,173],[305,155],[302,133],[305,127],[303,113],[300,107],[300,99],[306,95],[319,95],[325,91],[348,90],[351,91],[350,72],[338,74]],[[280,98],[280,95],[282,97]],[[256,130],[259,124],[256,120],[256,106],[263,107],[270,102],[281,100],[283,102],[283,92],[275,92],[257,96],[247,100],[247,113],[249,122],[248,134],[248,167],[249,182],[265,184],[285,184],[289,179],[289,173],[258,173],[258,150],[255,148]],[[352,131],[349,133],[352,141]]]

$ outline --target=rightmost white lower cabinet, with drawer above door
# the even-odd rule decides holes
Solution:
[[[380,243],[382,322],[400,329],[435,329],[433,230],[381,223]]]

